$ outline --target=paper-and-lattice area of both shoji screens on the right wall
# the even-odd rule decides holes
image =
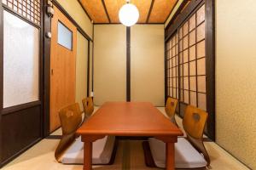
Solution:
[[[205,5],[197,9],[166,42],[167,95],[207,111]]]

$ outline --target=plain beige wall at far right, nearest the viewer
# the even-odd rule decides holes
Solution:
[[[217,143],[256,169],[256,1],[216,1]]]

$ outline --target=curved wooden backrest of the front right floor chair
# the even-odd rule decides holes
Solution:
[[[208,118],[207,111],[202,111],[195,106],[188,105],[183,117],[183,128],[187,133],[187,139],[190,144],[192,144],[196,150],[201,152],[206,161],[207,166],[210,165],[210,157],[207,150],[203,144],[203,133],[206,126]]]

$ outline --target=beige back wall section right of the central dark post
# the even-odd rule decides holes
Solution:
[[[131,27],[131,101],[164,106],[164,25]]]

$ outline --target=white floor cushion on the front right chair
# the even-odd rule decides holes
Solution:
[[[158,139],[151,138],[148,141],[154,164],[157,167],[166,167],[166,144]],[[207,161],[187,139],[177,138],[175,144],[176,168],[200,168],[207,167]]]

